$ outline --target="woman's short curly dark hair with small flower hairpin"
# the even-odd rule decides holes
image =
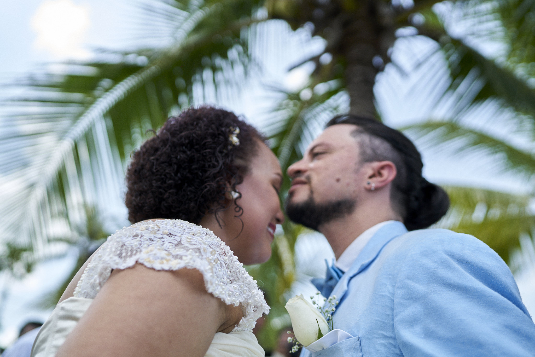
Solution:
[[[239,145],[231,141],[235,128]],[[170,117],[132,154],[126,174],[129,221],[171,218],[198,224],[206,214],[217,218],[228,207],[225,193],[236,191],[247,174],[258,140],[265,138],[223,109],[190,108]],[[236,203],[236,216],[242,212]]]

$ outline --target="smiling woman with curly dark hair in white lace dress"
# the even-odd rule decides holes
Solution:
[[[242,265],[269,259],[283,219],[264,140],[211,107],[167,120],[128,168],[137,223],[80,269],[32,356],[263,356],[251,330],[269,307]]]

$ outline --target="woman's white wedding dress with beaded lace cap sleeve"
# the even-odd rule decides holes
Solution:
[[[180,219],[162,219],[124,227],[106,240],[87,265],[74,296],[58,303],[42,326],[32,357],[55,356],[112,269],[136,263],[156,270],[197,269],[209,293],[227,305],[241,305],[241,321],[230,333],[217,332],[205,357],[264,356],[252,330],[269,306],[256,280],[212,231]]]

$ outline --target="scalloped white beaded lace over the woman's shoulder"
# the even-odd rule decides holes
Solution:
[[[197,269],[207,291],[227,305],[241,304],[243,318],[233,331],[249,331],[269,312],[256,280],[212,231],[180,219],[146,221],[112,234],[93,256],[74,297],[94,299],[112,269],[141,263],[156,270]]]

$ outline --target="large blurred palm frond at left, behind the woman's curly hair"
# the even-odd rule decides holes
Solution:
[[[248,52],[241,28],[257,21],[252,7],[231,17],[219,2],[183,3],[187,10],[175,19],[169,48],[124,54],[119,63],[66,63],[19,83],[26,90],[6,101],[1,124],[6,240],[31,244],[39,256],[56,236],[76,239],[75,227],[87,221],[85,206],[107,202],[124,215],[124,167],[146,132],[170,112],[243,82]],[[234,9],[243,1],[235,3],[225,2]],[[219,20],[200,26],[212,18]],[[199,86],[212,90],[195,94]],[[59,232],[58,224],[70,233]]]

